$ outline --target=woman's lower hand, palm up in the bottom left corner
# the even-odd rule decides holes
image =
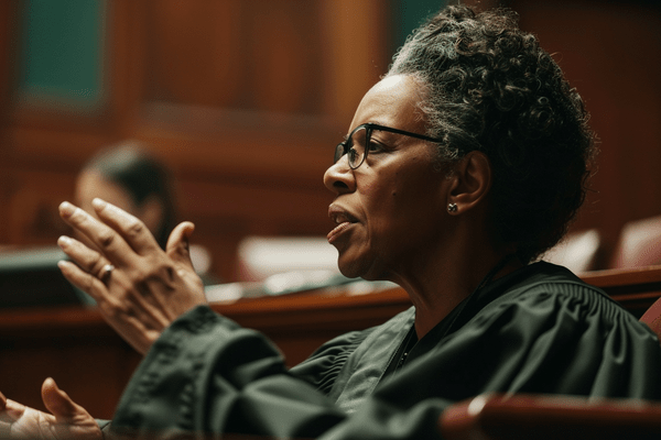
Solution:
[[[30,440],[96,440],[104,436],[96,420],[47,378],[42,399],[51,414],[26,407],[0,393],[0,438]]]

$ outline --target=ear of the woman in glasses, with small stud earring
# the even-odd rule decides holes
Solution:
[[[467,153],[454,167],[453,183],[447,197],[451,215],[478,206],[491,188],[491,163],[481,152]]]

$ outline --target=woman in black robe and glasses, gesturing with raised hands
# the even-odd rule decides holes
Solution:
[[[586,119],[510,13],[448,7],[423,25],[364,97],[324,176],[342,272],[399,283],[414,307],[291,370],[263,336],[204,305],[191,223],[163,253],[102,200],[102,222],[63,204],[102,250],[61,239],[79,265],[63,273],[147,353],[110,429],[421,439],[441,437],[448,405],[485,392],[659,398],[655,336],[565,268],[531,263],[583,200]],[[46,426],[100,436],[52,381],[45,388],[44,400],[69,408]],[[33,410],[8,408],[23,415],[14,431],[34,426]]]

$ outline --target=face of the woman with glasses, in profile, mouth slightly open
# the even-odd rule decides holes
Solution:
[[[378,82],[358,106],[350,133],[366,122],[425,134],[418,110],[420,86],[410,76]],[[390,132],[375,132],[379,147],[350,169],[343,156],[324,175],[335,193],[328,215],[337,224],[328,242],[349,277],[399,280],[443,241],[449,180],[434,170],[435,145]]]

